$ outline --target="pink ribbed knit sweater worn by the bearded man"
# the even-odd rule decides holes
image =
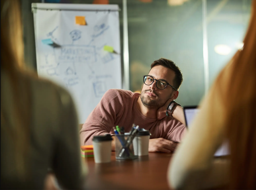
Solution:
[[[115,134],[113,127],[123,126],[125,132],[131,130],[134,123],[149,130],[150,138],[165,138],[180,142],[186,133],[186,127],[172,117],[158,121],[144,116],[137,108],[139,93],[127,90],[110,89],[90,113],[80,131],[81,145],[91,145],[92,138],[106,133]]]

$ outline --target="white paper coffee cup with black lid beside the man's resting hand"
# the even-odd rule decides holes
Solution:
[[[143,130],[139,132],[133,139],[133,149],[135,156],[145,156],[149,155],[149,131]]]

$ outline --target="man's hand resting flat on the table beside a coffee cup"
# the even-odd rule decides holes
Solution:
[[[177,142],[169,141],[164,138],[153,138],[149,140],[149,152],[171,153],[175,150]]]

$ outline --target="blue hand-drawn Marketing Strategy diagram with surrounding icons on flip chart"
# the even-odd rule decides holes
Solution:
[[[52,31],[48,32],[46,36],[54,38],[55,41],[58,39],[53,36],[53,33],[59,27],[55,27]],[[102,95],[107,91],[106,78],[112,78],[112,75],[95,75],[95,69],[93,64],[98,62],[98,66],[105,65],[114,60],[113,53],[103,51],[103,47],[106,45],[102,44],[99,47],[96,45],[90,45],[95,40],[95,38],[104,34],[105,31],[109,29],[109,26],[102,23],[95,25],[93,27],[94,34],[91,35],[91,41],[89,45],[74,44],[74,41],[81,40],[82,32],[78,29],[74,29],[69,32],[69,36],[72,40],[71,44],[61,45],[60,47],[53,47],[53,55],[55,57],[55,67],[47,67],[49,65],[48,54],[45,54],[45,65],[41,68],[46,69],[46,73],[49,76],[61,77],[65,81],[66,87],[73,87],[79,85],[80,78],[77,75],[76,64],[86,65],[87,70],[90,71],[91,79],[95,79],[91,83],[94,90],[95,97],[102,97]],[[106,77],[107,76],[107,77]]]

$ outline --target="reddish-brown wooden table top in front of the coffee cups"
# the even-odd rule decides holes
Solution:
[[[135,160],[119,161],[112,152],[111,162],[95,164],[87,158],[87,189],[169,189],[167,168],[172,154],[149,153]]]

